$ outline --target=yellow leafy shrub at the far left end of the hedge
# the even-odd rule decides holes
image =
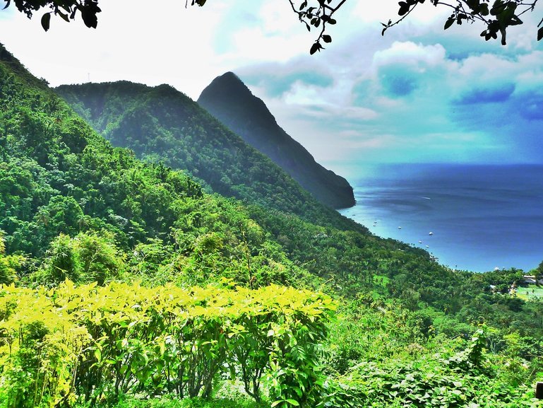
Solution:
[[[72,393],[90,337],[53,291],[4,286],[0,292],[0,407],[55,407]]]

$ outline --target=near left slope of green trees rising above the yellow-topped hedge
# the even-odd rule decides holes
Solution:
[[[0,283],[307,281],[240,202],[114,148],[1,45],[0,158]]]

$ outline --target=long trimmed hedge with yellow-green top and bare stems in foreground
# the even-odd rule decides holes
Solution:
[[[276,405],[311,405],[334,309],[328,296],[281,286],[4,286],[0,407],[133,392],[209,397],[220,375],[241,378],[257,401],[265,380]]]

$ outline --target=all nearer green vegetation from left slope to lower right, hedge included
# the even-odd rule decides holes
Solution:
[[[521,271],[205,192],[112,147],[3,47],[0,158],[1,408],[539,404]]]

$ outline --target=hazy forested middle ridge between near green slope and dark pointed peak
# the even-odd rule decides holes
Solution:
[[[278,165],[171,86],[120,81],[59,86],[61,95],[114,146],[189,171],[215,192],[251,204],[348,224]]]

